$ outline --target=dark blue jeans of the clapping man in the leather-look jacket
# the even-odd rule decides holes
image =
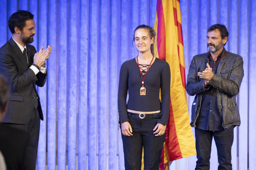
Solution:
[[[195,147],[198,159],[195,170],[210,169],[212,137],[217,147],[218,170],[232,170],[231,147],[234,140],[234,126],[220,131],[201,130],[195,127]]]

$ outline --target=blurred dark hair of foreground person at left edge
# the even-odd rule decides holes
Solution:
[[[9,99],[10,91],[6,79],[0,75],[0,112],[4,110],[5,104]]]

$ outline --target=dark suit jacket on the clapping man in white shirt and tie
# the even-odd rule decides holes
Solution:
[[[9,106],[3,122],[26,124],[35,117],[35,108],[38,108],[41,120],[44,119],[35,85],[43,87],[47,74],[39,71],[35,75],[29,68],[34,61],[36,49],[29,44],[26,44],[26,49],[30,65],[12,37],[0,48],[0,74],[6,77],[11,86]]]

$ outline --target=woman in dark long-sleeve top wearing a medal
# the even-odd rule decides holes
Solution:
[[[143,148],[144,169],[159,170],[169,118],[171,75],[169,64],[154,57],[155,35],[153,28],[138,26],[134,42],[139,54],[120,69],[118,111],[125,170],[140,170]]]

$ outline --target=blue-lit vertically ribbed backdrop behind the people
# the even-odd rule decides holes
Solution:
[[[1,0],[0,46],[12,36],[9,16],[29,10],[37,34],[32,45],[52,46],[48,78],[38,88],[44,112],[38,170],[124,170],[118,131],[119,68],[137,56],[133,31],[154,27],[157,0]],[[256,1],[180,0],[186,75],[192,57],[207,52],[207,28],[215,23],[230,33],[225,48],[244,60],[237,96],[241,126],[235,128],[234,170],[256,169]],[[187,97],[189,111],[194,96]],[[194,132],[194,129],[192,129]],[[196,156],[174,161],[171,170],[193,170]],[[211,170],[218,159],[212,143]]]

